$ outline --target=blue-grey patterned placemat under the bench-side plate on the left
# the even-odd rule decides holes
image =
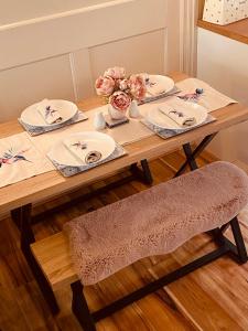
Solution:
[[[66,166],[66,164],[60,164],[56,160],[53,159],[53,156],[51,153],[47,153],[47,158],[52,161],[54,167],[64,175],[64,177],[71,177],[87,170],[90,170],[97,166],[107,163],[111,160],[121,158],[127,154],[127,151],[123,149],[122,146],[116,145],[116,149],[114,152],[106,159],[99,160],[97,162],[90,163],[90,164],[85,164],[85,166],[77,166],[77,167],[72,167],[72,166]]]

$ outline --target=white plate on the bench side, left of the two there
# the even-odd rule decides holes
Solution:
[[[116,149],[115,140],[106,134],[96,132],[96,131],[85,131],[67,136],[66,138],[75,139],[75,142],[82,141],[87,145],[87,148],[82,150],[82,158],[85,158],[86,154],[90,151],[99,151],[101,153],[101,159],[108,158],[114,150]],[[69,151],[63,140],[58,141],[48,152],[48,157],[56,161],[60,164],[78,167],[86,166]]]

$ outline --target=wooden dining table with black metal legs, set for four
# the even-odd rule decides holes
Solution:
[[[187,76],[182,73],[174,73],[171,75],[171,77],[175,82],[179,82]],[[100,100],[98,98],[91,98],[80,103],[78,108],[88,110],[99,106],[99,104]],[[190,164],[192,170],[196,169],[197,164],[194,159],[195,156],[197,156],[207,146],[207,143],[218,131],[247,120],[248,108],[240,104],[234,104],[215,110],[212,113],[212,115],[217,118],[217,120],[212,124],[165,140],[158,136],[152,136],[142,139],[142,141],[130,143],[125,147],[128,151],[127,156],[82,174],[77,174],[72,178],[63,178],[57,171],[54,170],[0,189],[0,214],[12,211],[13,218],[19,221],[18,225],[21,229],[22,252],[25,255],[25,258],[32,268],[41,290],[43,291],[53,312],[58,310],[56,300],[50,286],[44,279],[43,274],[40,273],[40,268],[36,265],[36,261],[30,249],[30,244],[35,241],[31,227],[32,204],[51,196],[60,195],[63,192],[74,190],[83,185],[88,185],[110,175],[117,170],[136,164],[141,160],[157,158],[161,154],[181,148],[182,146],[186,154],[187,162],[182,166],[181,170],[177,172],[177,175],[184,171],[186,164]],[[0,125],[0,138],[22,131],[23,129],[17,120]],[[201,139],[203,139],[202,143],[200,143],[198,147],[192,151],[190,143]],[[144,162],[143,166],[145,170],[147,163]]]

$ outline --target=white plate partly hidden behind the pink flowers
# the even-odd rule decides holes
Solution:
[[[150,90],[152,92],[153,87],[154,87],[154,92],[158,90],[158,93],[147,93],[145,97],[150,98],[150,97],[157,97],[163,94],[166,94],[169,92],[171,92],[174,86],[175,83],[172,78],[168,77],[168,76],[161,76],[161,75],[148,75],[149,81],[147,79],[147,86],[150,84]]]

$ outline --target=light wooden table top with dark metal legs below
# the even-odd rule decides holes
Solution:
[[[187,76],[182,73],[171,74],[175,81],[182,81]],[[99,98],[86,99],[78,105],[79,109],[89,110],[100,105]],[[218,132],[225,128],[242,122],[248,119],[248,107],[240,104],[234,104],[212,113],[217,118],[216,121],[206,126],[200,127],[192,131],[162,139],[158,136],[152,136],[142,141],[133,142],[125,147],[128,154],[114,160],[111,162],[96,167],[80,174],[64,178],[57,171],[50,171],[19,183],[0,189],[0,214],[9,212],[15,207],[28,203],[34,203],[40,200],[45,200],[51,196],[58,195],[63,192],[87,185],[106,178],[117,170],[120,170],[131,163],[142,159],[157,158],[161,154],[180,148],[183,143],[191,142],[197,139],[203,139],[207,135]],[[14,134],[22,132],[23,128],[18,120],[12,120],[0,125],[0,138],[4,138]]]

